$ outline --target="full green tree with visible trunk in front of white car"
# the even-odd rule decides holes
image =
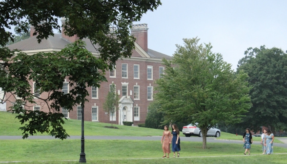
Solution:
[[[156,81],[155,100],[161,103],[164,121],[198,123],[206,134],[216,123],[237,123],[250,108],[247,74],[236,76],[222,55],[211,52],[211,44],[184,39],[170,61],[164,60],[164,78]]]

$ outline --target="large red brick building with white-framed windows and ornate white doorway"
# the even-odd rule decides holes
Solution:
[[[64,20],[61,20],[64,23]],[[111,28],[112,30],[112,28]],[[106,73],[108,82],[102,82],[100,88],[87,88],[89,96],[86,98],[89,102],[85,103],[84,119],[85,121],[123,124],[123,121],[144,123],[147,115],[147,107],[153,101],[154,81],[160,78],[163,73],[164,65],[162,59],[171,59],[170,56],[164,55],[157,51],[148,49],[147,47],[147,24],[134,24],[131,29],[131,34],[137,39],[135,49],[131,58],[118,60],[116,69]],[[33,26],[31,26],[31,37],[24,41],[20,41],[8,46],[10,49],[19,49],[28,55],[38,52],[53,52],[61,51],[68,43],[77,41],[77,36],[68,37],[62,34],[50,36],[47,40],[37,42],[36,36],[33,36]],[[63,30],[62,30],[63,31]],[[88,39],[83,39],[86,42],[86,49],[93,55],[97,56],[98,52]],[[103,102],[110,85],[116,85],[117,93],[120,95],[119,110],[114,116],[108,116],[103,110]],[[31,82],[31,85],[34,83]],[[68,81],[63,82],[63,92],[69,92],[72,89],[68,85]],[[34,93],[38,94],[37,91]],[[8,95],[7,95],[8,96]],[[6,97],[7,97],[6,96]],[[47,93],[41,93],[41,97],[47,96]],[[10,97],[10,99],[15,99]],[[13,102],[13,100],[10,100]],[[15,101],[15,100],[14,100]],[[29,110],[48,111],[45,104],[41,104],[40,100],[35,100],[37,104],[29,104],[33,106]],[[7,102],[7,109],[12,103]],[[81,119],[81,106],[75,106],[73,111],[67,113],[62,109],[65,117],[70,119]]]

